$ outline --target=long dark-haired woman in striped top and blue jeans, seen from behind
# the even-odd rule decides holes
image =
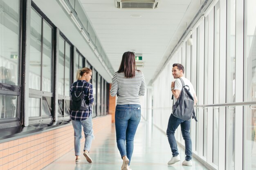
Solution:
[[[130,170],[133,140],[141,117],[139,96],[144,96],[145,92],[144,75],[137,70],[135,54],[125,52],[110,90],[112,97],[117,95],[115,127],[117,147],[123,159],[121,170]]]

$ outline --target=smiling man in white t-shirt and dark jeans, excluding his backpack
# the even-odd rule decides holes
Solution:
[[[185,85],[189,86],[189,92],[191,95],[194,97],[194,104],[197,103],[198,99],[195,94],[195,90],[193,88],[193,85],[191,82],[183,77],[184,73],[184,66],[182,64],[175,63],[173,64],[173,69],[172,69],[173,77],[176,79],[175,82],[172,82],[171,84],[171,91],[173,93],[173,103],[177,102],[177,99],[180,96],[180,92],[182,90],[182,82],[180,81],[179,78],[182,78],[184,81]],[[168,161],[168,165],[172,165],[178,161],[180,161],[180,156],[177,148],[177,142],[175,139],[175,130],[178,128],[178,126],[181,126],[182,130],[182,136],[185,141],[185,161],[182,162],[182,165],[186,166],[192,166],[192,142],[190,138],[190,120],[182,120],[179,119],[173,114],[171,114],[169,121],[168,121],[168,127],[166,130],[166,134],[168,137],[169,144],[171,146],[171,151],[173,154],[173,157],[171,158],[170,161]]]

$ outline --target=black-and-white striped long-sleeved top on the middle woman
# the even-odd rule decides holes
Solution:
[[[124,72],[116,72],[112,78],[110,95],[117,95],[117,104],[140,104],[139,96],[144,96],[145,92],[145,78],[140,71],[135,71],[132,78],[126,78]]]

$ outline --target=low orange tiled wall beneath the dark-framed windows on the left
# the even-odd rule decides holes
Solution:
[[[97,117],[92,121],[95,134],[111,126],[112,116]],[[0,144],[0,170],[40,170],[71,149],[74,149],[72,124],[4,142]]]

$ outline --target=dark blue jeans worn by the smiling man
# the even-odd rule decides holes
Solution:
[[[178,148],[177,148],[177,142],[174,136],[175,130],[180,125],[182,137],[185,140],[185,155],[186,155],[186,161],[189,161],[192,159],[192,142],[190,138],[190,120],[182,120],[179,119],[173,114],[171,114],[169,121],[168,121],[168,127],[166,130],[166,134],[168,137],[169,144],[171,146],[171,150],[173,152],[173,157],[176,157],[179,155]]]

